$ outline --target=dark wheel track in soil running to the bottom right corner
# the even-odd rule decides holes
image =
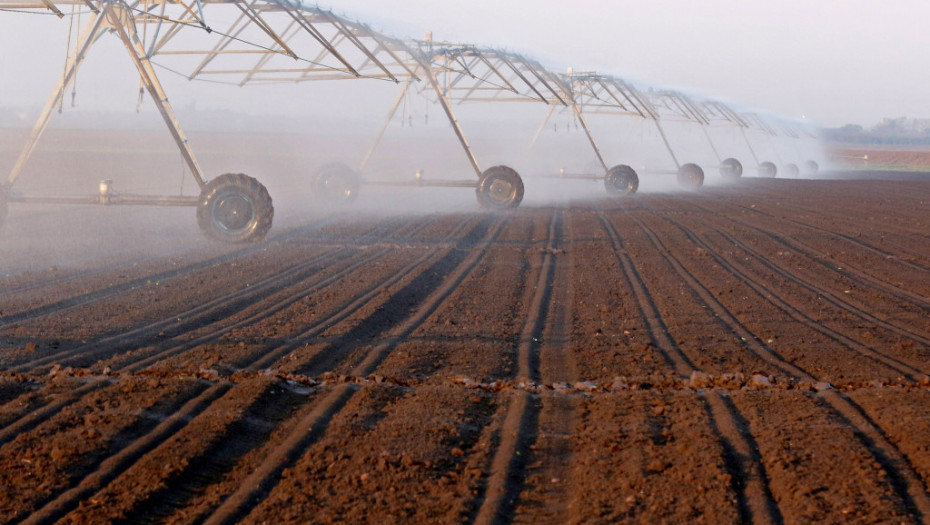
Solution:
[[[761,343],[760,339],[754,334],[748,332],[729,312],[729,310],[720,303],[700,281],[691,274],[684,265],[675,257],[671,251],[659,240],[655,232],[649,228],[645,222],[636,217],[632,212],[627,211],[627,215],[636,222],[643,232],[655,244],[656,249],[666,260],[672,263],[676,273],[689,283],[691,286],[697,286],[693,290],[702,296],[705,304],[710,308],[718,318],[722,319],[731,327],[736,334],[741,335],[747,342],[747,348],[756,355],[768,356],[767,360],[780,372],[788,376],[802,379],[808,382],[816,382],[817,379],[802,370],[801,368],[788,364],[781,360],[777,352]],[[661,217],[661,216],[660,216]],[[748,335],[748,337],[747,337]],[[850,398],[833,390],[832,387],[821,387],[819,394],[830,405],[834,415],[844,420],[850,427],[855,430],[855,436],[860,443],[875,458],[875,461],[881,465],[882,469],[888,476],[890,485],[901,499],[907,511],[917,516],[918,519],[930,516],[930,492],[923,484],[916,469],[907,456],[897,448],[887,437],[885,432],[878,427],[868,416],[865,411],[859,407]]]

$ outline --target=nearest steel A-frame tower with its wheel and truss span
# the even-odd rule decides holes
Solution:
[[[156,66],[190,80],[209,79],[240,86],[357,78],[392,83],[417,79],[414,70],[419,59],[403,41],[295,0],[0,0],[0,8],[52,11],[60,18],[66,16],[66,6],[71,7],[71,16],[77,10],[83,14],[89,9],[87,22],[7,181],[0,185],[0,197],[8,202],[197,206],[198,221],[206,233],[211,234],[211,229],[218,227],[219,233],[212,232],[215,237],[257,240],[271,223],[273,212],[267,191],[251,178],[245,182],[241,178],[217,182],[250,186],[247,190],[232,188],[217,192],[217,188],[210,186],[168,100]],[[101,183],[98,194],[91,196],[13,192],[12,187],[46,131],[54,109],[60,105],[93,45],[106,33],[115,34],[125,47],[139,74],[140,97],[144,90],[152,98],[200,189],[199,196],[118,194],[111,191],[109,182]],[[226,195],[230,191],[237,196],[235,199]],[[243,195],[243,192],[253,193]],[[208,205],[218,209],[219,205],[209,202],[217,193],[225,196],[229,216],[202,217],[220,213],[213,207],[203,211]],[[264,199],[267,206],[256,204]],[[238,208],[229,204],[231,200]],[[243,226],[247,229],[241,235],[235,234],[229,224],[241,223],[237,215],[246,213],[266,216],[255,217]],[[256,228],[256,224],[261,227]],[[257,231],[254,235],[253,230]]]

